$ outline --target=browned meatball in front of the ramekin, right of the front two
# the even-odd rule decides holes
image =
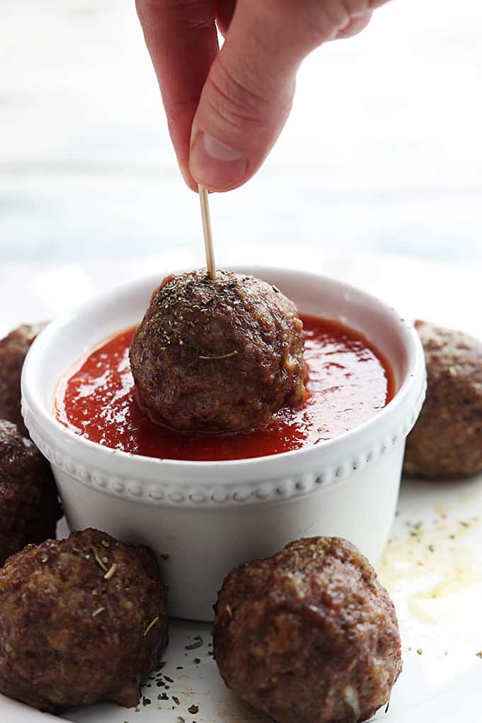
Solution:
[[[356,723],[402,669],[395,608],[352,544],[312,537],[225,579],[214,654],[226,685],[278,723]]]

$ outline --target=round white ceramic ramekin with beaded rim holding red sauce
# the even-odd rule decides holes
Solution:
[[[104,338],[142,318],[155,277],[110,291],[54,321],[33,343],[22,411],[51,462],[72,529],[96,527],[160,555],[172,615],[212,618],[224,576],[298,537],[339,535],[372,561],[395,514],[405,437],[425,394],[423,349],[382,301],[319,275],[238,268],[276,284],[301,312],[361,331],[390,360],[395,398],[369,422],[317,446],[227,461],[159,460],[110,450],[65,429],[53,414],[59,377]]]

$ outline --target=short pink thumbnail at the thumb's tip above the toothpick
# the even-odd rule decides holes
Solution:
[[[248,159],[238,150],[201,131],[191,146],[189,168],[198,183],[214,191],[223,191],[244,179]]]

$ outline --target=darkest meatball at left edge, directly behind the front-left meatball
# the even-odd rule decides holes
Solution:
[[[61,516],[48,461],[14,424],[0,420],[0,564],[29,542],[55,537]]]

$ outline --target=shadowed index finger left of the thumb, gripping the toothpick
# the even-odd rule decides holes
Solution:
[[[212,61],[218,54],[215,0],[136,0],[171,139],[186,183],[189,141],[197,105]]]

